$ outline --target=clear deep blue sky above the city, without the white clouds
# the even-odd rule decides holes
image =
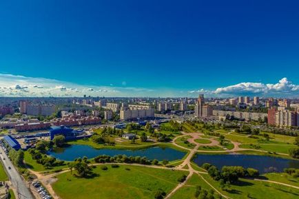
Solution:
[[[0,73],[108,96],[298,96],[298,10],[295,0],[1,1]],[[282,78],[283,92],[269,90]]]

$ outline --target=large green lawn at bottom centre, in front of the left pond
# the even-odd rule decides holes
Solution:
[[[121,199],[121,198],[154,198],[158,189],[169,193],[176,185],[178,178],[187,171],[172,171],[149,167],[120,165],[107,171],[96,167],[94,178],[75,178],[70,172],[56,176],[58,180],[52,185],[56,194],[63,199]]]

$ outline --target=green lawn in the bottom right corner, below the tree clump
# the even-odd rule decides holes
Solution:
[[[298,198],[299,189],[276,185],[270,182],[261,182],[256,180],[240,179],[238,185],[231,185],[227,191],[220,189],[218,181],[213,180],[208,174],[201,174],[211,185],[225,196],[234,199],[243,199],[249,196],[255,199],[293,199]]]

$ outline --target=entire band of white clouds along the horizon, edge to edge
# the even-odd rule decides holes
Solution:
[[[299,97],[299,85],[291,83],[287,78],[281,78],[278,83],[243,82],[214,90],[185,90],[176,88],[157,88],[156,90],[143,87],[129,87],[121,83],[114,85],[80,85],[49,78],[34,78],[13,74],[0,73],[0,96],[287,96]],[[187,89],[187,88],[186,88]]]

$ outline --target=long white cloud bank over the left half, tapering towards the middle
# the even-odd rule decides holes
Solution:
[[[141,87],[79,85],[49,78],[0,74],[0,96],[149,96]]]

